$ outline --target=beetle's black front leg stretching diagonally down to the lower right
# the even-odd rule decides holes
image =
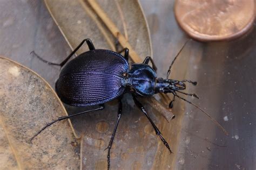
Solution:
[[[140,103],[136,96],[133,95],[133,101],[134,103],[137,105],[137,107],[144,113],[144,115],[149,119],[150,123],[152,124],[154,131],[156,131],[156,134],[160,137],[161,141],[163,141],[164,145],[167,147],[167,149],[170,151],[170,153],[173,153],[171,151],[171,148],[169,146],[169,144],[167,143],[167,141],[163,138],[163,136],[161,136],[161,132],[159,131],[159,129],[157,128],[157,126],[154,124],[154,122],[152,121],[152,119],[150,118],[150,116],[147,114],[145,108],[143,107],[142,103]]]

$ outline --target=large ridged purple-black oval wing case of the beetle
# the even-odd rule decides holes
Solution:
[[[64,103],[85,107],[106,103],[125,89],[123,73],[129,63],[122,55],[105,49],[85,52],[60,72],[56,92]]]

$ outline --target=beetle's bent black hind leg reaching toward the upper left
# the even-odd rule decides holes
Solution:
[[[88,47],[89,47],[90,50],[95,49],[95,47],[93,46],[92,41],[91,41],[90,39],[84,39],[84,40],[83,40],[82,42],[80,42],[80,44],[69,54],[69,56],[67,56],[67,58],[66,58],[64,61],[60,62],[60,63],[53,63],[53,62],[46,61],[46,60],[44,60],[43,58],[41,58],[41,56],[37,55],[34,51],[32,51],[30,54],[35,55],[39,60],[41,60],[41,61],[43,61],[43,62],[45,62],[45,63],[48,63],[48,65],[56,65],[56,66],[62,67],[62,66],[65,65],[66,62],[69,61],[69,59],[71,58],[71,56],[77,52],[77,50],[84,44],[85,41],[86,41],[86,43],[87,43],[87,45],[88,45]]]

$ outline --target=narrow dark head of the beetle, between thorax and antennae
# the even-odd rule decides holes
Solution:
[[[178,80],[158,78],[156,82],[155,93],[173,93],[186,89],[186,85]]]

